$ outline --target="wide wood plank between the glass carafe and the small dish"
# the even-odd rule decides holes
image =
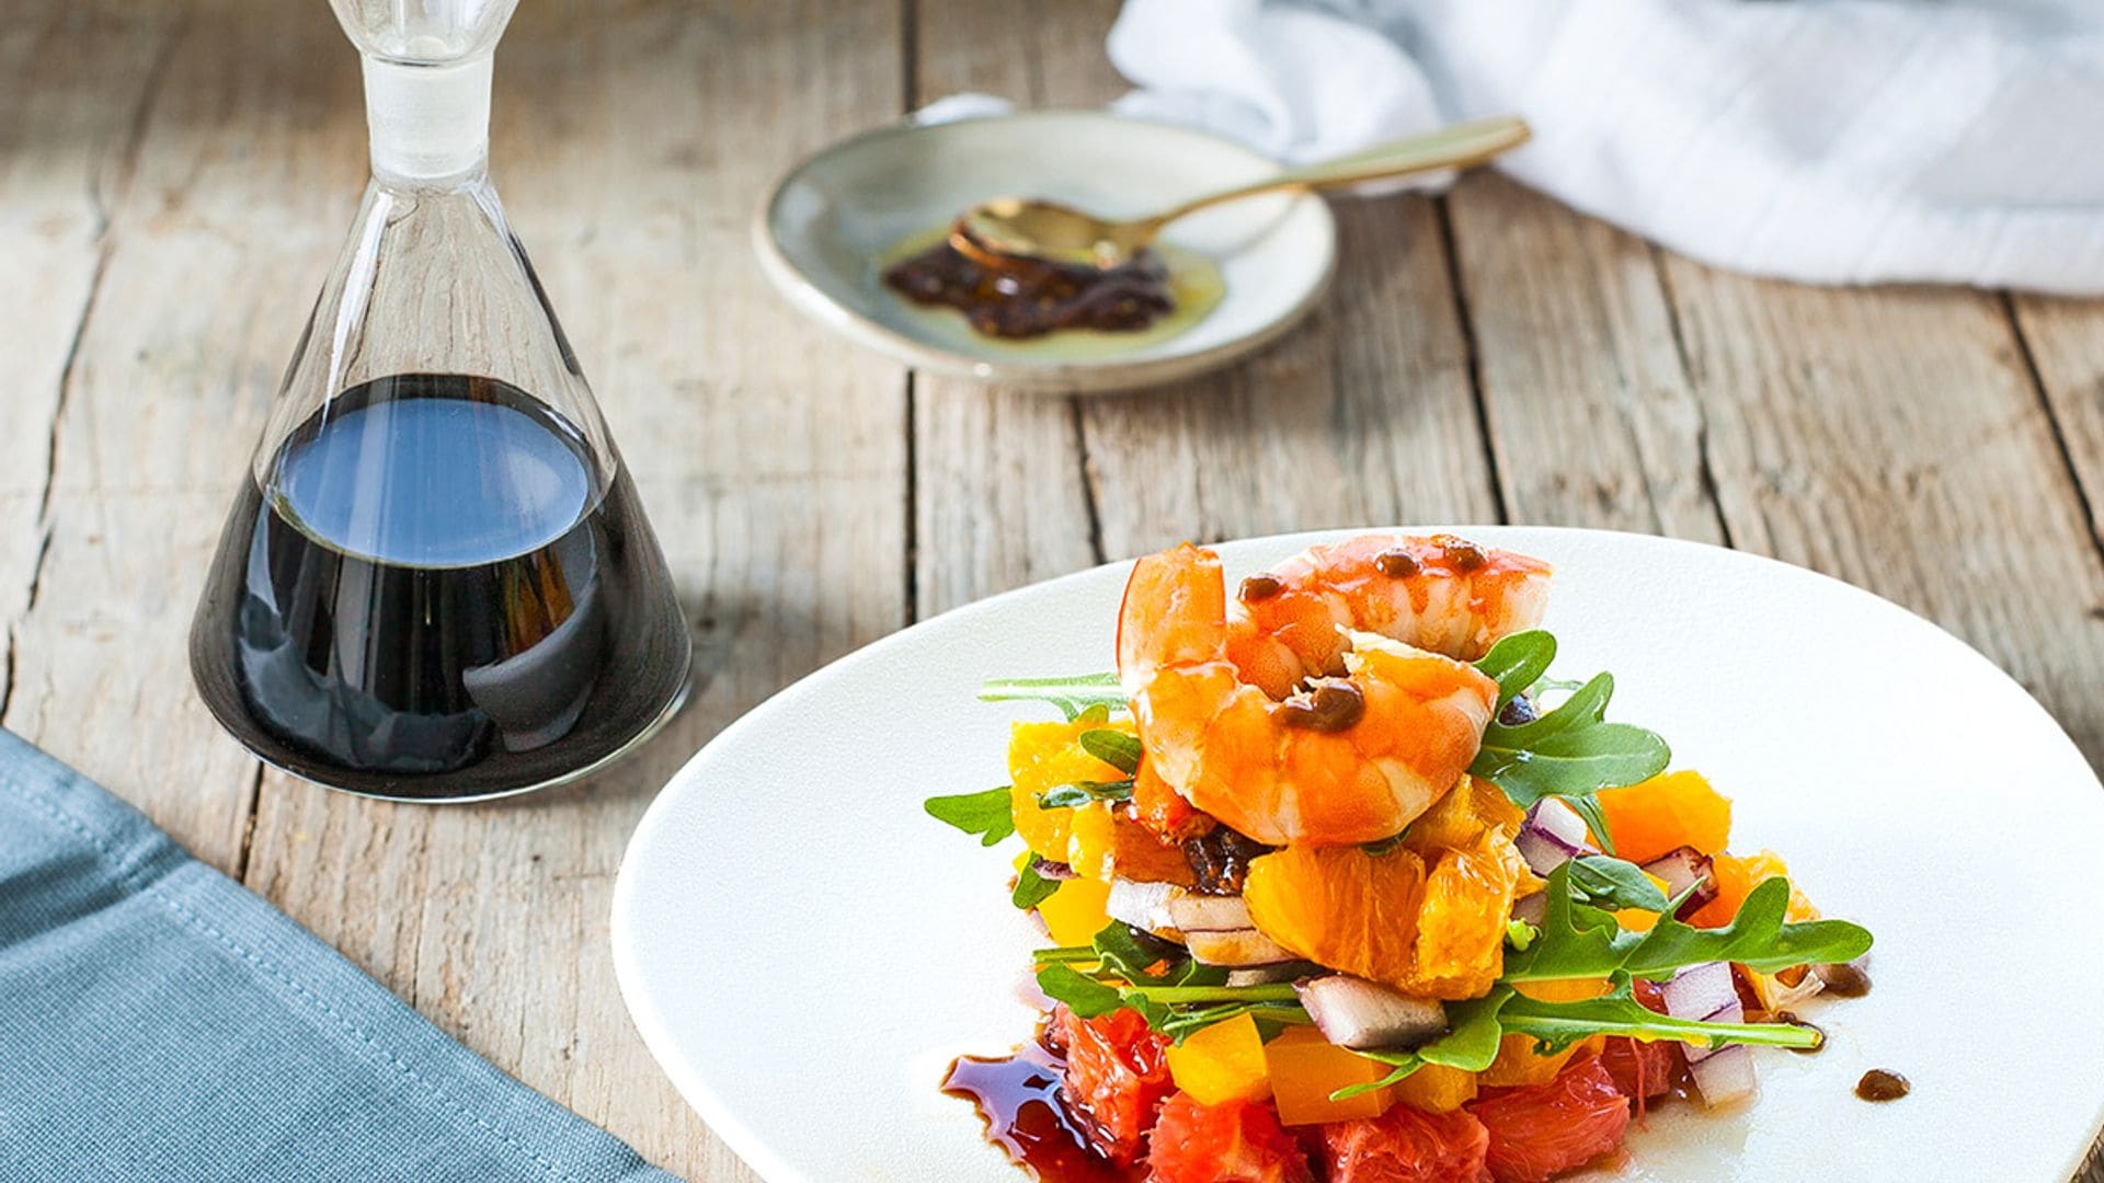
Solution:
[[[745,240],[770,177],[898,109],[901,67],[896,6],[522,6],[499,53],[494,177],[665,545],[694,701],[583,787],[431,808],[271,775],[257,813],[250,886],[690,1179],[753,1177],[629,1025],[612,878],[690,751],[905,617],[905,370],[797,318]]]

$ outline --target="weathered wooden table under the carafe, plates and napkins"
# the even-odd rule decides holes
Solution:
[[[614,989],[629,829],[774,688],[1004,587],[1313,526],[1679,535],[1936,619],[2104,756],[2104,303],[1748,280],[1492,175],[1340,204],[1307,326],[1134,398],[913,375],[766,290],[747,219],[778,171],[953,91],[1100,103],[1124,88],[1113,11],[524,4],[494,175],[671,558],[699,682],[585,787],[429,808],[259,768],[183,648],[366,177],[356,55],[320,0],[21,0],[0,27],[0,720],[499,1067],[711,1181],[751,1175]]]

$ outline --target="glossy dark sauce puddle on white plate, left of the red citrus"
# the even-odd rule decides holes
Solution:
[[[1086,1122],[1060,1095],[1065,1067],[1041,1042],[1006,1057],[957,1057],[943,1092],[970,1101],[987,1122],[987,1139],[1041,1183],[1138,1183],[1145,1170],[1115,1166],[1090,1149]]]

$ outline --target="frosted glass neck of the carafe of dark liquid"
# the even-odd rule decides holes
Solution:
[[[480,177],[490,160],[492,55],[419,65],[366,55],[372,175],[387,185]]]

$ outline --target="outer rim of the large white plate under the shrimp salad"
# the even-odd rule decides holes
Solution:
[[[2007,669],[2003,669],[2001,665],[1997,665],[1995,659],[1990,659],[1988,655],[1980,653],[1971,642],[1967,642],[1965,638],[1953,634],[1950,629],[1942,627],[1940,623],[1923,617],[1921,613],[1908,608],[1906,604],[1898,604],[1894,600],[1887,600],[1887,598],[1879,596],[1877,592],[1870,592],[1870,589],[1858,587],[1854,583],[1847,583],[1845,579],[1826,575],[1822,570],[1814,570],[1809,566],[1799,566],[1795,562],[1786,562],[1786,560],[1780,560],[1780,558],[1774,558],[1774,556],[1744,552],[1744,549],[1736,549],[1736,547],[1727,547],[1727,545],[1719,545],[1719,543],[1706,543],[1706,541],[1698,541],[1698,539],[1675,539],[1675,537],[1666,537],[1666,535],[1647,535],[1647,533],[1637,533],[1637,530],[1605,530],[1605,528],[1595,528],[1595,526],[1488,524],[1488,522],[1483,522],[1483,524],[1443,524],[1443,526],[1405,524],[1405,526],[1338,526],[1338,528],[1319,528],[1319,530],[1283,530],[1283,533],[1273,533],[1273,535],[1252,535],[1252,537],[1218,539],[1218,541],[1210,541],[1210,543],[1203,543],[1203,545],[1208,549],[1227,547],[1227,545],[1235,545],[1235,547],[1243,547],[1243,545],[1250,545],[1250,547],[1277,545],[1277,547],[1283,549],[1288,545],[1296,545],[1296,549],[1298,549],[1298,547],[1313,545],[1313,543],[1336,541],[1336,539],[1347,539],[1347,537],[1368,535],[1368,533],[1391,533],[1391,530],[1393,533],[1408,533],[1408,535],[1454,533],[1454,535],[1462,535],[1462,537],[1466,537],[1471,533],[1479,533],[1481,535],[1481,533],[1488,533],[1488,530],[1534,530],[1534,533],[1553,533],[1553,535],[1572,535],[1572,537],[1595,537],[1595,539],[1599,539],[1599,537],[1635,539],[1639,545],[1660,545],[1660,547],[1666,547],[1666,549],[1694,547],[1694,549],[1702,549],[1702,552],[1715,552],[1715,554],[1723,554],[1723,556],[1734,556],[1734,560],[1746,560],[1753,566],[1761,566],[1761,564],[1780,566],[1780,568],[1786,568],[1786,570],[1795,573],[1797,577],[1809,577],[1814,583],[1826,583],[1826,585],[1839,587],[1847,596],[1858,596],[1858,598],[1875,600],[1875,602],[1883,604],[1885,608],[1898,610],[1898,613],[1902,613],[1906,617],[1913,617],[1917,623],[1925,625],[1931,634],[1936,634],[1940,638],[1940,644],[1944,644],[1955,657],[1969,659],[1969,661],[1982,665],[1988,674],[1992,674],[1992,678],[1999,678],[2001,682],[2007,682],[2009,686],[2014,686],[2039,711],[2039,716],[2043,716],[2045,722],[2051,724],[2054,735],[2058,737],[2058,741],[2064,747],[2066,756],[2070,756],[2075,760],[2075,766],[2081,766],[2083,770],[2087,770],[2089,783],[2100,794],[2104,794],[2104,777],[2100,777],[2098,768],[2089,764],[2089,758],[2083,756],[2081,747],[2075,743],[2075,737],[2068,735],[2066,726],[2060,724],[2060,720],[2054,716],[2054,711],[2049,711],[2045,707],[2045,703],[2041,703],[2039,697],[2030,693],[2028,686],[2024,686],[2022,682],[2018,682]],[[659,787],[659,791],[650,798],[650,806],[638,819],[635,829],[629,834],[629,840],[627,840],[627,844],[621,850],[621,865],[614,871],[614,890],[612,890],[612,897],[610,897],[610,911],[612,911],[612,916],[610,916],[610,924],[608,924],[608,945],[610,945],[610,954],[612,954],[612,962],[614,962],[614,985],[621,991],[621,1004],[627,1008],[629,1021],[635,1025],[635,1031],[638,1031],[638,1036],[644,1042],[644,1050],[650,1052],[650,1059],[659,1065],[659,1071],[663,1071],[665,1078],[671,1080],[673,1088],[694,1109],[694,1114],[701,1116],[701,1120],[709,1126],[709,1130],[717,1139],[722,1139],[722,1143],[726,1147],[730,1147],[730,1151],[736,1154],[747,1166],[751,1166],[753,1172],[760,1175],[766,1183],[816,1183],[816,1181],[810,1175],[806,1175],[804,1170],[791,1166],[781,1154],[776,1154],[774,1149],[770,1149],[768,1143],[764,1139],[760,1139],[751,1128],[747,1128],[745,1122],[715,1095],[713,1088],[709,1088],[696,1074],[692,1074],[682,1063],[680,1057],[669,1055],[673,1040],[669,1038],[669,1034],[667,1034],[667,1029],[665,1029],[665,1025],[663,1025],[656,1008],[646,998],[646,994],[642,989],[642,981],[640,981],[642,968],[635,962],[635,956],[638,956],[635,954],[635,943],[633,943],[635,933],[633,933],[633,926],[631,926],[631,920],[629,920],[629,916],[633,914],[633,897],[635,897],[635,890],[638,890],[635,888],[635,874],[633,874],[635,853],[646,844],[646,836],[652,829],[656,829],[659,825],[663,825],[665,817],[669,815],[669,810],[675,808],[675,806],[669,804],[671,798],[673,798],[673,787],[680,785],[682,781],[686,781],[690,777],[690,773],[694,770],[694,766],[701,764],[707,758],[707,754],[709,754],[711,747],[715,747],[717,743],[724,743],[726,739],[732,739],[732,737],[741,735],[743,730],[747,730],[751,726],[760,726],[766,718],[774,716],[776,711],[793,707],[795,699],[800,699],[802,695],[810,693],[810,684],[812,682],[816,682],[821,676],[827,676],[827,674],[835,671],[835,667],[842,667],[842,665],[848,665],[848,663],[861,665],[861,663],[877,661],[886,653],[890,653],[896,644],[905,644],[905,638],[909,638],[913,631],[917,631],[917,629],[922,629],[926,625],[934,625],[936,621],[947,621],[951,617],[972,617],[972,615],[993,613],[993,610],[997,610],[999,606],[1004,606],[1012,598],[1020,598],[1025,594],[1035,594],[1041,587],[1052,587],[1052,585],[1063,585],[1063,583],[1071,583],[1071,581],[1096,577],[1098,573],[1102,573],[1107,568],[1130,566],[1132,562],[1134,562],[1132,558],[1100,562],[1100,564],[1086,566],[1081,570],[1071,570],[1071,573],[1056,575],[1056,577],[1050,577],[1050,579],[1039,579],[1039,581],[1033,581],[1033,583],[1025,583],[1020,587],[1010,587],[1006,592],[997,592],[993,596],[985,596],[980,600],[957,604],[953,608],[936,613],[934,617],[928,617],[926,621],[915,621],[915,623],[911,623],[911,625],[907,625],[903,629],[890,631],[890,634],[886,634],[886,636],[882,636],[882,638],[877,638],[877,640],[873,640],[869,644],[852,648],[852,650],[848,650],[848,653],[844,653],[844,655],[839,655],[839,657],[835,657],[835,659],[818,665],[816,669],[810,669],[802,678],[789,682],[787,686],[781,686],[778,690],[774,690],[766,699],[753,703],[747,711],[743,711],[739,718],[734,718],[722,730],[717,730],[713,737],[709,737],[709,741],[703,743],[686,762],[682,762],[680,768],[673,770],[673,775],[665,781],[665,785]],[[2098,1099],[2093,1101],[2093,1114],[2091,1114],[2091,1122],[2089,1124],[2098,1132],[2091,1135],[2089,1141],[2085,1141],[2083,1145],[2079,1145],[2079,1147],[2075,1147],[2070,1151],[2068,1160],[2064,1162],[2064,1172],[2062,1172],[2062,1177],[2066,1177],[2066,1179],[2077,1179],[2081,1175],[2081,1170],[2087,1166],[2091,1149],[2098,1145],[2098,1135],[2104,1135],[2104,1088],[2098,1090]],[[2058,1183],[2058,1179],[2054,1183]]]

